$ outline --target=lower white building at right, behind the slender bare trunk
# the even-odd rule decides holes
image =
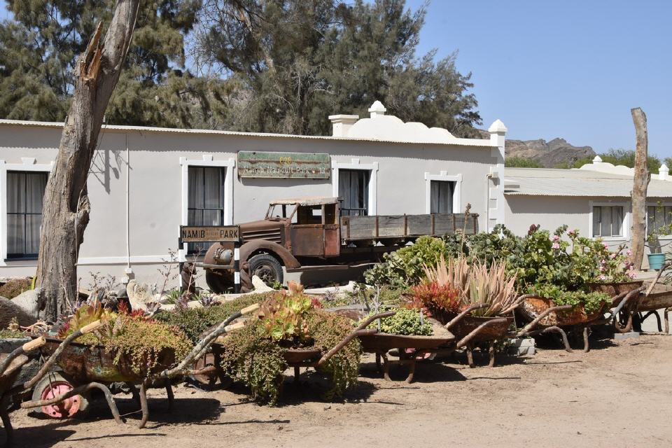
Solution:
[[[647,188],[647,231],[672,222],[672,177],[662,165]],[[530,225],[555,230],[567,224],[612,246],[631,238],[632,168],[602,162],[599,156],[580,169],[507,168],[505,223],[524,234]],[[661,237],[665,240],[670,238]],[[667,241],[667,242],[668,242]]]

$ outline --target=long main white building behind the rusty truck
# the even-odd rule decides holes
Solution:
[[[104,125],[78,274],[153,282],[180,225],[261,219],[269,201],[286,197],[337,195],[346,213],[369,215],[461,212],[470,203],[481,230],[504,222],[503,123],[489,139],[458,139],[388,116],[380,102],[369,112],[331,116],[330,137]],[[61,132],[62,123],[0,120],[0,276],[36,272],[41,199]],[[326,167],[310,179],[260,177],[239,166],[246,152],[316,155]]]

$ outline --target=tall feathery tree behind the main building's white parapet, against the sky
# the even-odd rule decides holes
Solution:
[[[403,120],[470,135],[480,117],[456,55],[415,57],[425,13],[404,0],[206,0],[197,48],[241,82],[233,129],[327,134],[330,113],[365,115],[379,99]]]

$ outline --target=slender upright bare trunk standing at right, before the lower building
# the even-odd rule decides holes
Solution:
[[[649,138],[646,115],[642,109],[630,109],[635,124],[637,147],[635,150],[635,176],[632,187],[632,258],[634,268],[642,268],[646,232],[646,189],[651,179],[647,165]]]

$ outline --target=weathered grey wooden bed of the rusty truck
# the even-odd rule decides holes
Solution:
[[[453,235],[465,230],[468,235],[478,232],[478,214],[427,214],[386,216],[342,216],[341,239],[395,239],[422,235]]]

